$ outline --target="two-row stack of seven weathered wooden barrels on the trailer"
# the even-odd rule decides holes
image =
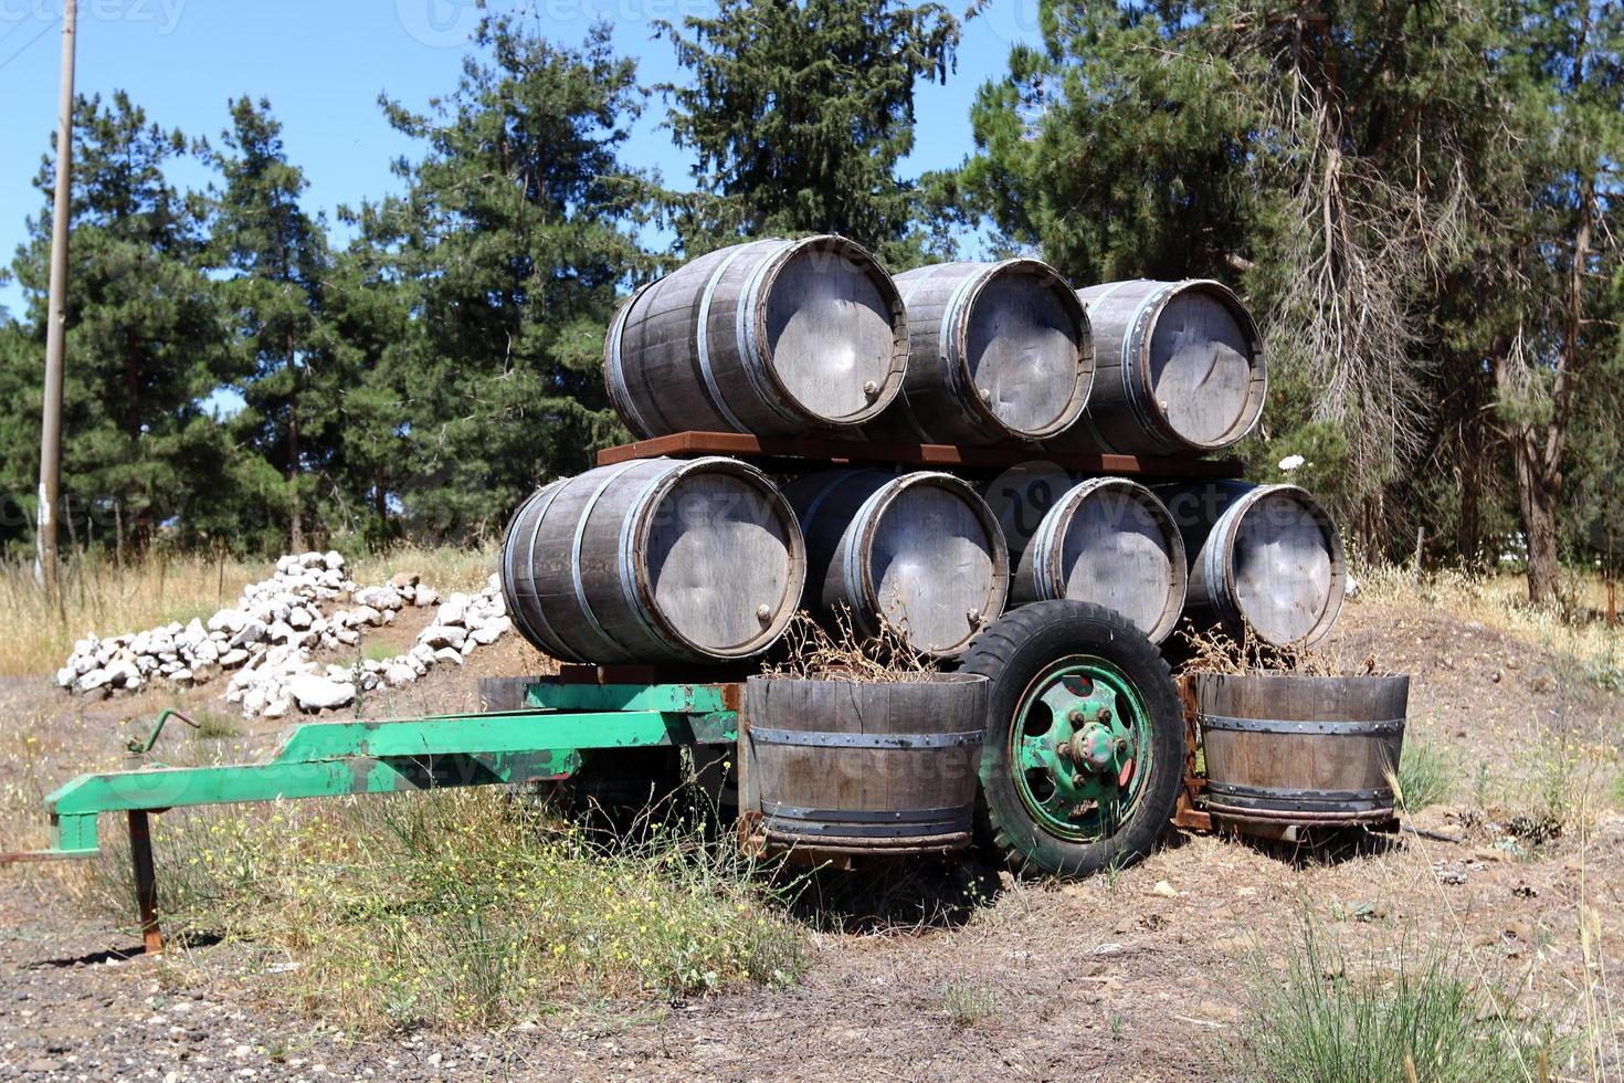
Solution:
[[[1301,489],[1155,490],[1044,453],[1195,458],[1265,399],[1262,344],[1212,281],[1073,291],[1038,260],[890,276],[844,237],[719,248],[637,291],[604,343],[641,438],[802,434],[1002,448],[987,482],[635,460],[555,481],[513,515],[502,583],[520,630],[578,662],[729,662],[796,609],[960,654],[1010,602],[1077,598],[1151,640],[1186,612],[1268,643],[1335,622],[1341,542]]]

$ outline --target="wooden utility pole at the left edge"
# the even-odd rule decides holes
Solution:
[[[39,430],[39,575],[62,604],[57,570],[58,490],[62,487],[62,359],[68,323],[68,214],[73,192],[73,39],[78,0],[62,5],[62,91],[57,102],[57,192],[50,214],[50,297],[45,315],[45,417]]]

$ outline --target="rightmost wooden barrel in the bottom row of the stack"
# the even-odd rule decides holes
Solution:
[[[1320,641],[1341,614],[1348,560],[1330,515],[1296,485],[1161,490],[1190,560],[1187,607],[1272,646]]]

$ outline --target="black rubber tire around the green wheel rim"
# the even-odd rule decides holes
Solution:
[[[1077,843],[1046,831],[1015,792],[1009,737],[1015,708],[1047,666],[1067,654],[1114,662],[1150,713],[1153,757],[1142,799],[1117,831]],[[1184,774],[1184,713],[1173,674],[1156,646],[1114,609],[1078,601],[1031,602],[989,623],[965,653],[961,672],[989,682],[987,734],[981,749],[978,828],[983,843],[1021,875],[1086,877],[1148,854],[1173,818]]]

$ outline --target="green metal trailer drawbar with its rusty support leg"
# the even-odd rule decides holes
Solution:
[[[538,677],[520,710],[409,719],[305,723],[287,729],[263,763],[164,766],[80,774],[45,797],[47,849],[0,854],[0,864],[101,854],[97,820],[127,813],[136,909],[148,951],[162,950],[149,817],[169,809],[248,800],[393,794],[456,786],[560,781],[581,753],[612,749],[732,745],[737,684],[567,684]],[[132,753],[153,750],[171,718]]]

